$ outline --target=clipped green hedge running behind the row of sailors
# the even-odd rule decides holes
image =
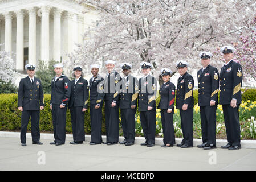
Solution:
[[[243,101],[256,101],[256,89],[242,89],[242,100]],[[198,102],[198,90],[194,90],[194,105]],[[44,100],[46,105],[44,110],[40,111],[40,131],[53,132],[52,127],[52,117],[50,109],[50,94],[44,94]],[[157,97],[156,104],[158,105],[160,97]],[[0,131],[14,131],[21,129],[21,111],[18,110],[17,106],[17,94],[0,94]],[[137,111],[139,114],[139,111]],[[103,105],[103,123],[102,132],[105,134],[105,113]],[[120,112],[119,112],[120,118]],[[122,135],[121,122],[119,123],[120,135]],[[29,122],[28,130],[31,130],[31,125]],[[91,133],[91,123],[90,123],[90,109],[86,111],[84,115],[84,130],[86,134]],[[72,132],[70,110],[67,110],[67,124],[66,131],[68,133]]]

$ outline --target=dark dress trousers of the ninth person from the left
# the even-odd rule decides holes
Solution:
[[[184,138],[181,143],[193,146],[193,108],[188,108],[185,111],[180,109],[180,117]]]

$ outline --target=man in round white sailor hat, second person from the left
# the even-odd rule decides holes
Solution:
[[[66,140],[66,113],[71,87],[70,80],[62,73],[63,64],[55,64],[54,72],[56,76],[51,82],[50,102],[50,108],[52,109],[52,125],[54,127],[54,142],[50,144],[60,146],[65,144]]]

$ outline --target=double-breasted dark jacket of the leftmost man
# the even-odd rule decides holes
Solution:
[[[22,78],[18,89],[18,107],[23,107],[23,110],[40,110],[40,106],[44,106],[41,80],[34,77],[32,84],[29,76]]]

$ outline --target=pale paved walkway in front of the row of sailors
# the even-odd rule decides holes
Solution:
[[[22,147],[19,138],[0,137],[0,170],[256,170],[256,150],[202,150],[201,148],[163,148],[103,144]],[[45,158],[44,158],[45,156]],[[45,164],[44,164],[45,162]]]

